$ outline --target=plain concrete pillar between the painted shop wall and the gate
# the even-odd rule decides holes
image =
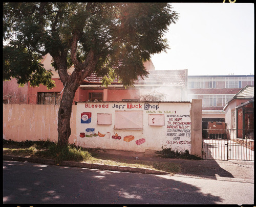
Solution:
[[[191,102],[191,154],[202,157],[202,99]]]

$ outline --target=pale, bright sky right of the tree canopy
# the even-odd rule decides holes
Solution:
[[[151,58],[155,70],[188,69],[188,75],[254,74],[252,3],[171,5],[180,17],[165,33],[170,49]]]

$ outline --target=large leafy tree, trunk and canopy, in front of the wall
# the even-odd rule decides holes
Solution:
[[[148,73],[143,62],[168,48],[163,38],[177,13],[167,3],[3,3],[4,80],[54,87],[40,64],[50,54],[64,90],[58,146],[67,146],[75,92],[91,73],[124,86]],[[74,65],[71,75],[67,69]]]

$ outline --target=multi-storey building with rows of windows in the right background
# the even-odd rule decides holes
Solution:
[[[254,75],[188,75],[188,101],[203,100],[203,128],[208,121],[225,121],[223,108],[245,86],[254,86]]]

